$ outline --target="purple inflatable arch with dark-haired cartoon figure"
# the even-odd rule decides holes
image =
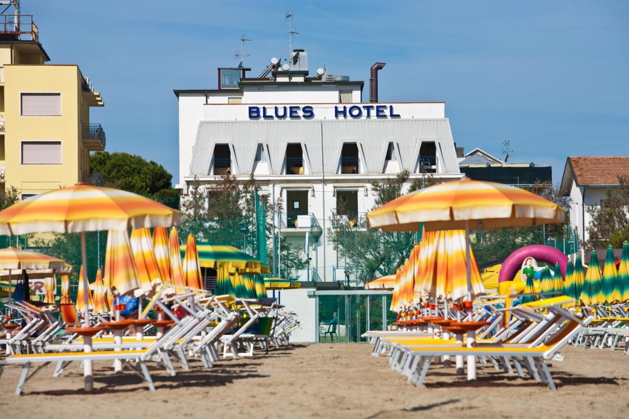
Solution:
[[[509,288],[514,288],[517,293],[524,291],[526,275],[532,274],[535,279],[539,279],[542,269],[537,265],[537,261],[546,262],[548,265],[555,265],[559,262],[562,277],[565,277],[565,268],[568,264],[568,257],[558,249],[545,245],[530,245],[516,250],[504,259],[504,263],[498,274],[498,292],[506,294]],[[514,281],[518,271],[521,271],[520,280]],[[554,272],[557,274],[558,272]]]

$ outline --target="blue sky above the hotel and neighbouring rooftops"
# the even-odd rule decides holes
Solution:
[[[243,6],[247,4],[247,6]],[[103,94],[92,108],[109,151],[140,154],[178,173],[173,89],[216,88],[216,67],[259,74],[293,48],[309,67],[365,81],[380,101],[445,101],[455,142],[513,162],[629,154],[629,1],[23,0],[53,64],[79,64]]]

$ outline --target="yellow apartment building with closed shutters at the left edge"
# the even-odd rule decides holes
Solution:
[[[89,152],[105,147],[89,115],[100,93],[78,65],[49,60],[31,15],[0,14],[0,192],[22,199],[86,181]]]

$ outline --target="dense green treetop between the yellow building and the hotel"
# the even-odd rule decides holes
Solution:
[[[120,152],[96,152],[89,157],[92,179],[103,179],[103,186],[116,187],[136,194],[172,195],[170,174],[164,166],[139,155]]]

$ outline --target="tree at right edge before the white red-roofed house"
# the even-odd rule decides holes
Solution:
[[[629,177],[618,176],[618,187],[608,187],[600,206],[588,206],[590,222],[586,246],[591,249],[622,247],[629,240]]]

